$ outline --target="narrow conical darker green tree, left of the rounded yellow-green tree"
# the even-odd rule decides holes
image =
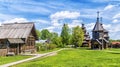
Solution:
[[[62,38],[62,43],[64,45],[69,44],[70,34],[69,34],[69,27],[67,24],[64,24],[62,27],[61,38]]]

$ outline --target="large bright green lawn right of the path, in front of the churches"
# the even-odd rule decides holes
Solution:
[[[67,49],[13,67],[120,67],[120,49]]]

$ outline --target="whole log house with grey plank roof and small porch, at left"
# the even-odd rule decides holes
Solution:
[[[0,56],[8,53],[21,54],[35,51],[38,40],[35,25],[28,23],[7,23],[0,26]]]

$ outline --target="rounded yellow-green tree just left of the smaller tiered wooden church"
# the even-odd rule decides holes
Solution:
[[[81,27],[76,26],[73,28],[72,40],[75,47],[80,47],[84,39],[84,32]]]

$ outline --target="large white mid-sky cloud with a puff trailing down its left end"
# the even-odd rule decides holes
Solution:
[[[50,15],[53,26],[61,26],[60,20],[70,19],[74,20],[80,16],[79,12],[60,11]]]

